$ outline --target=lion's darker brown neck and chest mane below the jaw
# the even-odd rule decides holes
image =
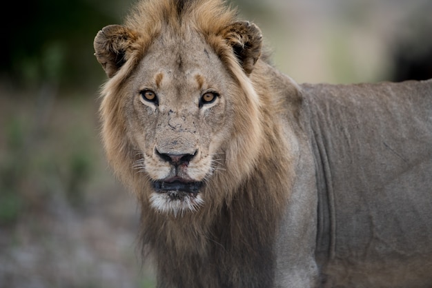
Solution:
[[[166,218],[143,211],[143,240],[155,256],[159,287],[271,287],[282,187],[289,181],[274,172],[273,161],[260,163],[216,213]]]

